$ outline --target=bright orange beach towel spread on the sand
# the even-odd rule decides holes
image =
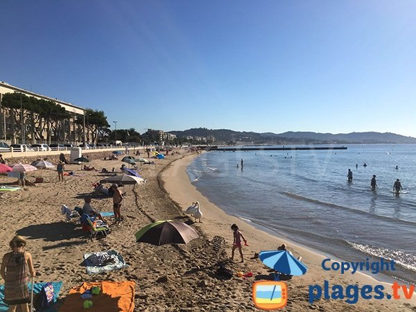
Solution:
[[[119,311],[133,312],[135,310],[135,282],[134,281],[96,281],[84,282],[80,287],[72,288],[64,299],[59,312],[84,311],[84,300],[81,294],[94,286],[101,288],[99,295],[89,298],[93,306],[88,311]]]

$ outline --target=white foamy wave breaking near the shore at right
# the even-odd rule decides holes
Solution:
[[[365,254],[370,254],[371,256],[384,258],[387,260],[394,260],[395,263],[398,263],[400,266],[408,270],[416,272],[416,255],[409,254],[403,250],[389,250],[381,247],[374,247],[372,245],[363,245],[358,243],[351,243],[347,241],[352,248],[364,252]]]

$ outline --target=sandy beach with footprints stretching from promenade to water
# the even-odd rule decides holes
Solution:
[[[112,225],[107,238],[88,241],[89,234],[82,232],[75,220],[67,222],[60,213],[62,204],[70,208],[82,207],[83,198],[91,195],[92,184],[103,179],[98,171],[80,171],[80,165],[67,165],[66,171],[75,171],[73,177],[58,182],[55,171],[39,170],[28,174],[28,180],[44,177],[45,182],[21,191],[5,193],[0,211],[0,252],[8,252],[8,242],[15,234],[28,239],[28,252],[33,254],[38,276],[35,281],[63,281],[60,294],[62,304],[72,287],[83,281],[135,281],[135,311],[259,311],[252,303],[252,284],[259,279],[268,279],[268,268],[259,259],[250,259],[254,252],[274,250],[286,243],[295,256],[309,271],[302,277],[287,281],[288,304],[282,311],[416,311],[416,297],[412,300],[363,300],[347,304],[345,300],[317,300],[309,304],[309,285],[323,286],[349,284],[373,286],[382,284],[368,275],[324,271],[324,257],[306,248],[285,242],[275,236],[255,229],[239,218],[228,216],[204,198],[191,184],[185,168],[195,154],[181,150],[182,155],[169,155],[166,159],[155,159],[155,165],[142,165],[140,173],[148,179],[144,185],[127,193],[121,208],[124,220]],[[101,169],[119,168],[120,161],[94,159],[104,155],[90,155],[90,165]],[[52,160],[52,159],[51,159]],[[1,184],[14,182],[12,178],[0,176]],[[100,211],[112,211],[112,198],[93,196],[92,205]],[[203,213],[202,223],[193,223],[182,211],[191,202],[198,200]],[[135,232],[155,220],[182,220],[193,226],[200,234],[187,245],[153,246],[135,242]],[[112,222],[109,219],[110,223]],[[193,223],[193,224],[192,224]],[[243,247],[244,263],[236,252],[234,261],[227,263],[234,273],[252,272],[253,277],[243,279],[218,279],[214,272],[218,263],[226,261],[231,254],[232,231],[230,225],[237,223],[248,240]],[[83,255],[114,249],[119,251],[128,268],[100,275],[88,275],[81,266]],[[166,271],[168,279],[166,280]],[[390,287],[383,284],[385,288]],[[390,289],[385,291],[392,293]],[[80,300],[82,304],[82,300]],[[80,309],[81,311],[81,309]]]

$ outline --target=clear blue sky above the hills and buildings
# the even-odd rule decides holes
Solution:
[[[416,137],[415,23],[414,0],[2,1],[0,81],[140,133]]]

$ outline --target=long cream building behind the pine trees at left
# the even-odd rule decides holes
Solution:
[[[1,99],[4,94],[8,93],[21,93],[29,97],[37,98],[40,100],[52,101],[55,104],[64,107],[64,110],[69,113],[69,118],[60,120],[55,125],[55,132],[51,133],[51,128],[42,127],[42,121],[39,119],[35,125],[31,125],[24,114],[21,114],[21,110],[10,110],[8,107],[1,105]],[[76,119],[83,116],[85,119],[85,110],[81,107],[60,101],[57,98],[50,98],[41,94],[21,89],[9,85],[8,83],[0,82],[0,140],[8,141],[12,143],[47,143],[56,141],[59,143],[79,143],[85,142],[88,135],[85,135],[85,122],[83,125],[76,123]],[[17,123],[16,123],[17,121]],[[12,133],[12,129],[15,129],[15,133]],[[49,135],[48,135],[48,129]],[[17,131],[18,130],[18,131]],[[40,132],[39,137],[34,137],[34,131]],[[46,141],[49,138],[49,141]]]

